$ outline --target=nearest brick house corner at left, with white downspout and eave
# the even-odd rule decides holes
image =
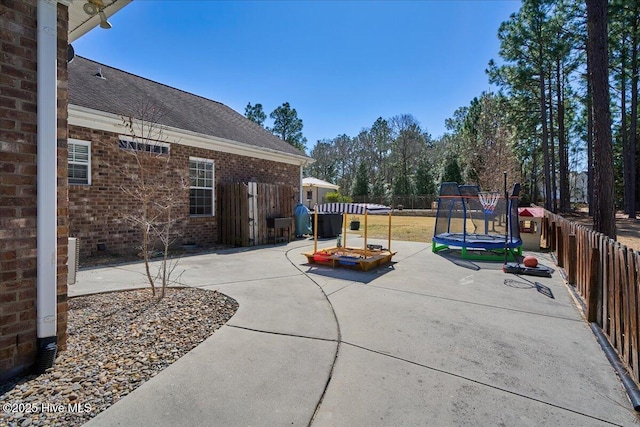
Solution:
[[[0,2],[0,381],[65,347],[69,43],[129,2]]]

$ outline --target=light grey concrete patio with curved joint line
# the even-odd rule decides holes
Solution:
[[[559,273],[506,275],[408,242],[392,242],[392,265],[356,272],[307,265],[312,244],[183,258],[181,282],[235,298],[238,312],[87,425],[637,422]],[[81,271],[69,295],[144,286],[142,271]]]

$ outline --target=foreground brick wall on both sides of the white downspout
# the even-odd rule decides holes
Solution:
[[[0,3],[0,379],[35,361],[37,1]],[[67,321],[67,22],[58,5],[58,334]]]

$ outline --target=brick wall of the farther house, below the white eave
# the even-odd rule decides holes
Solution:
[[[91,185],[69,186],[69,233],[79,238],[81,257],[96,254],[101,243],[109,252],[137,253],[140,232],[124,214],[139,206],[135,198],[123,191],[131,183],[135,158],[119,148],[117,134],[69,126],[69,138],[91,142]],[[255,181],[299,187],[299,166],[180,144],[171,144],[170,150],[171,169],[176,176],[188,177],[189,157],[199,157],[214,161],[216,183]],[[179,234],[176,244],[206,247],[217,243],[217,218],[189,217],[189,190],[182,191],[184,198],[175,226]]]

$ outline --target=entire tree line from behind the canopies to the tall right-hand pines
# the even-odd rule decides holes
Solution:
[[[440,181],[499,191],[507,171],[525,201],[568,212],[586,172],[595,228],[615,237],[615,210],[635,218],[640,199],[639,21],[637,0],[523,0],[486,69],[498,90],[457,109],[443,136],[411,114],[379,118],[318,141],[305,173],[355,196],[433,194]]]

